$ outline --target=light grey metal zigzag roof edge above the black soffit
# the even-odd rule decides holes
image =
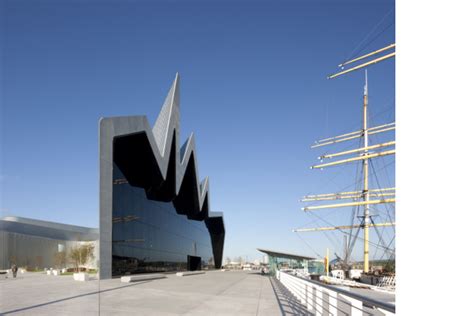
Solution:
[[[167,181],[168,167],[170,166],[171,148],[173,137],[175,144],[179,144],[179,125],[180,125],[180,111],[179,111],[179,74],[176,74],[174,82],[168,92],[168,96],[161,108],[160,114],[155,122],[153,128],[150,127],[146,116],[125,116],[125,117],[111,117],[102,118],[100,120],[101,134],[107,135],[111,139],[117,136],[126,136],[134,133],[145,132],[148,138],[150,147],[153,151],[154,158],[158,164],[161,176],[164,181]],[[175,135],[175,136],[173,136]],[[197,164],[196,145],[194,134],[188,137],[186,142],[178,150],[175,146],[176,153],[176,188],[175,195],[180,192],[181,185],[184,180],[184,175],[189,164],[189,160],[193,157],[194,170],[196,175],[196,188],[198,191],[199,212],[203,211],[203,205],[207,197],[208,217],[222,217],[220,213],[209,211],[209,178],[206,177],[201,183],[199,181],[199,171]]]

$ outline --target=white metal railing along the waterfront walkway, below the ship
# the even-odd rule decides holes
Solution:
[[[276,271],[276,278],[315,315],[395,315],[395,305]]]

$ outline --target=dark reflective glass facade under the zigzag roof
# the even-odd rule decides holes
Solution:
[[[204,221],[180,215],[172,202],[149,200],[113,167],[112,275],[214,268]]]

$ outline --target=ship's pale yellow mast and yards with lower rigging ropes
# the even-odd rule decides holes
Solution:
[[[341,68],[341,71],[329,75],[328,79],[334,79],[342,75],[346,75],[353,71],[367,68],[370,65],[374,65],[381,61],[395,57],[395,44],[390,44],[381,49],[377,49],[363,56],[353,58],[346,62],[338,65]],[[383,56],[378,57],[381,53],[384,53]],[[371,60],[365,61],[359,65],[353,66],[350,69],[344,70],[344,67],[357,63],[368,58]],[[310,169],[323,169],[326,167],[338,166],[350,162],[362,162],[362,182],[363,187],[361,189],[353,191],[344,191],[337,193],[323,193],[323,194],[313,194],[306,195],[301,199],[301,202],[317,202],[317,205],[310,205],[303,207],[304,212],[313,212],[322,209],[333,209],[333,208],[344,208],[344,207],[363,207],[363,213],[360,217],[360,223],[357,225],[340,225],[340,226],[327,226],[327,227],[311,227],[311,228],[299,228],[294,229],[294,232],[326,232],[326,231],[341,231],[345,233],[346,237],[349,235],[349,240],[345,238],[345,249],[344,249],[344,263],[348,264],[348,258],[354,248],[355,242],[360,239],[359,232],[363,230],[363,271],[365,273],[369,272],[369,251],[370,251],[370,229],[374,229],[379,237],[379,243],[377,244],[384,250],[385,253],[390,254],[390,258],[394,257],[395,251],[390,248],[393,242],[390,242],[388,245],[384,242],[383,236],[378,230],[379,227],[390,227],[395,226],[395,221],[392,219],[387,222],[376,222],[374,220],[374,214],[371,212],[371,207],[378,204],[394,204],[395,203],[395,187],[384,187],[384,188],[371,188],[369,183],[369,165],[372,159],[381,158],[384,156],[395,155],[395,140],[389,140],[378,144],[371,144],[369,142],[369,137],[374,134],[386,133],[389,131],[395,130],[395,122],[385,123],[378,126],[369,127],[368,123],[368,108],[369,108],[369,89],[368,89],[368,77],[367,69],[365,69],[365,84],[364,84],[364,93],[362,99],[362,127],[361,129],[338,135],[335,137],[325,138],[319,141],[316,141],[311,148],[320,148],[323,146],[334,145],[349,140],[360,139],[363,141],[363,145],[360,148],[345,150],[337,153],[323,154],[319,156],[320,162],[323,162],[324,159],[332,159],[334,157],[349,156],[341,160],[325,162],[320,164],[315,164],[310,167]],[[374,170],[375,171],[375,170]],[[378,181],[377,181],[378,182]],[[322,204],[321,201],[335,201],[335,200],[349,200],[348,202],[338,202],[334,204]],[[324,202],[323,202],[324,203]],[[353,230],[356,230],[353,234]],[[350,233],[347,234],[346,230],[350,230]]]

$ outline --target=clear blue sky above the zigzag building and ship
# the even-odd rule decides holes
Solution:
[[[393,1],[4,0],[0,14],[2,215],[98,227],[99,118],[153,123],[179,72],[181,142],[195,132],[225,256],[340,247],[291,229],[315,224],[303,195],[354,187],[356,165],[310,170],[310,145],[360,128],[363,72],[326,75],[395,41]],[[394,65],[369,68],[372,126],[394,120]]]

